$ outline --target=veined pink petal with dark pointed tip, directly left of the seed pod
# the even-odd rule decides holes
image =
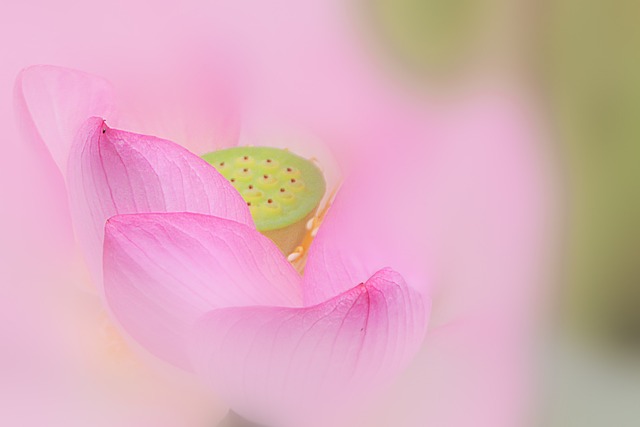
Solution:
[[[111,216],[196,212],[253,224],[238,192],[200,157],[167,140],[110,129],[100,118],[78,132],[68,178],[78,239],[98,281]]]

